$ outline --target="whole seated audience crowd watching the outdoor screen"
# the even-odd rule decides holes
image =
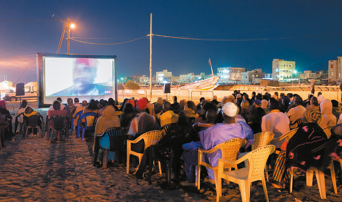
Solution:
[[[276,92],[272,95],[253,92],[249,97],[246,93],[234,91],[223,97],[221,102],[217,101],[216,96],[212,99],[202,97],[197,105],[190,100],[178,102],[176,96],[172,99],[170,103],[159,97],[156,103],[150,103],[146,97],[137,100],[130,98],[120,105],[112,98],[100,101],[92,99],[89,103],[83,100],[81,104],[78,98],[68,98],[65,106],[61,104],[62,99],[57,98],[49,108],[48,116],[66,116],[70,126],[76,127],[81,114],[95,112],[98,119],[86,117],[88,126],[96,124],[95,136],[112,127],[126,127],[127,140],[135,140],[148,131],[163,130],[165,125],[171,124],[173,129],[167,130],[158,143],[170,141],[169,145],[174,153],[172,170],[175,178],[179,178],[181,162],[184,162],[186,180],[180,182],[182,186],[195,186],[198,149],[210,150],[222,142],[240,138],[246,140],[241,151],[250,151],[254,134],[264,131],[272,132],[274,138],[279,138],[291,129],[298,128],[290,140],[270,142],[280,152],[279,155],[271,155],[268,161],[269,166],[274,168],[273,185],[276,187],[284,186],[290,168],[305,171],[312,165],[323,166],[322,159],[326,156],[334,154],[336,158],[341,158],[341,104],[337,100],[325,99],[322,93],[318,93],[317,97],[309,93],[307,98],[303,98],[293,93]],[[5,138],[8,139],[12,136],[11,118],[4,101],[0,101],[0,112],[0,125],[4,126]],[[23,120],[36,113],[23,101],[16,113],[17,116],[21,114],[18,118],[19,124],[23,124]],[[84,120],[81,120],[80,123],[83,122]],[[50,127],[53,126],[50,124]],[[323,131],[327,127],[331,127],[330,137]],[[170,139],[171,137],[176,137],[177,141]],[[96,140],[94,138],[94,147]],[[317,150],[322,145],[329,145],[330,149],[324,150],[328,152]],[[140,140],[132,144],[131,150],[144,154],[140,162],[135,157],[130,158],[136,178],[142,179],[150,148],[145,148],[144,140]],[[109,155],[112,161],[117,160],[116,158],[114,153]],[[219,158],[221,152],[216,151],[204,156],[203,160],[215,167]],[[98,159],[101,161],[100,157]],[[164,171],[163,168],[162,170]],[[207,169],[207,176],[208,181],[214,183],[215,176],[211,169]]]

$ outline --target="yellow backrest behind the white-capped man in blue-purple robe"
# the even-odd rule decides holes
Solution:
[[[215,148],[219,148],[221,150],[222,159],[235,161],[236,157],[238,156],[242,142],[242,139],[234,138],[216,145]]]

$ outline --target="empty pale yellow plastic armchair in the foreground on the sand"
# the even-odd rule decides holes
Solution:
[[[227,161],[224,159],[218,160],[218,182],[221,178],[239,184],[241,198],[243,202],[249,202],[250,197],[250,183],[261,180],[263,191],[265,192],[266,202],[268,202],[268,195],[266,189],[265,175],[263,173],[267,158],[276,149],[275,145],[266,145],[256,150],[249,152],[236,161]],[[224,166],[235,167],[239,163],[248,160],[248,166],[234,171],[225,171]],[[216,202],[222,196],[222,183],[217,183],[216,186]]]

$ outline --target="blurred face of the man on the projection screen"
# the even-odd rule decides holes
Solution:
[[[89,60],[89,59],[83,59]],[[86,90],[89,85],[93,84],[97,74],[97,63],[87,61],[76,61],[73,69],[74,88]]]

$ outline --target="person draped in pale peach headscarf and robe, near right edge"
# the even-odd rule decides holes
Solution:
[[[326,128],[336,125],[336,116],[332,114],[332,103],[329,99],[325,99],[320,103],[320,109],[322,113],[322,121],[319,124],[321,128]]]

